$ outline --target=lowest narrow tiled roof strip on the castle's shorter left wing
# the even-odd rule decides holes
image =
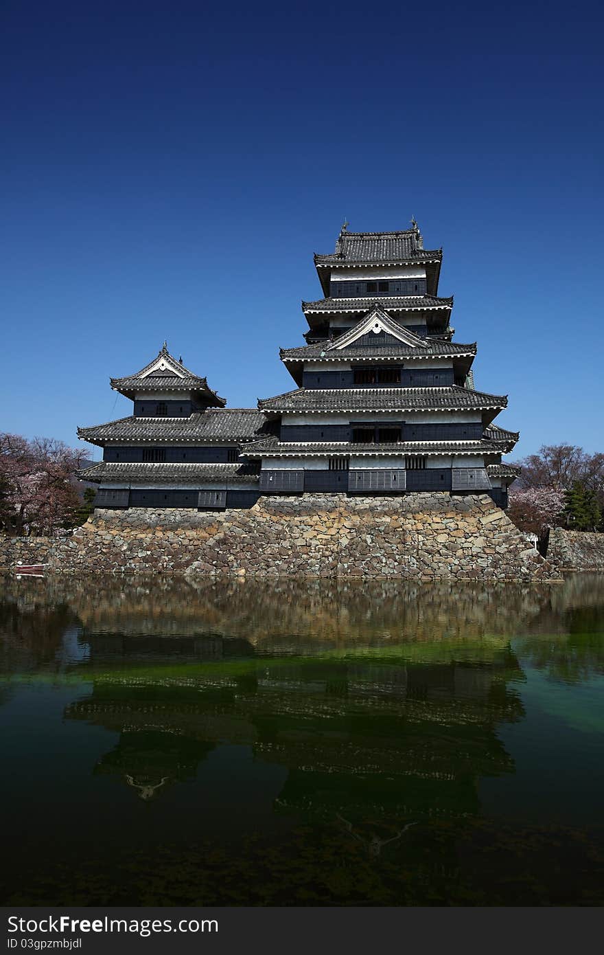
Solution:
[[[99,484],[102,481],[140,484],[199,484],[225,481],[240,484],[259,480],[253,464],[129,464],[127,462],[99,461],[79,472],[83,480]]]

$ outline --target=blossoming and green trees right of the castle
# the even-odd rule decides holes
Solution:
[[[544,444],[536,455],[514,463],[521,473],[510,487],[508,514],[521,530],[604,531],[604,454]]]

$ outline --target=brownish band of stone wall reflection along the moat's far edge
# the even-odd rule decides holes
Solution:
[[[69,658],[69,648],[61,648],[69,626],[79,627],[79,642],[94,645],[97,657],[206,659],[240,654],[246,647],[257,654],[307,655],[401,642],[571,636],[601,630],[604,619],[601,575],[561,584],[489,587],[161,577],[95,578],[94,584],[90,579],[5,579],[1,585],[2,652],[9,654],[0,661],[4,670],[52,667],[57,653]],[[173,640],[153,639],[165,637]],[[230,643],[235,640],[243,643]]]

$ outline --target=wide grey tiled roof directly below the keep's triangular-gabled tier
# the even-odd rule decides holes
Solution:
[[[474,392],[457,385],[447,388],[298,388],[258,402],[260,410],[272,412],[500,410],[507,404],[505,395]]]

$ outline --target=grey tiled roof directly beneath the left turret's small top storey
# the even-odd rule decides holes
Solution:
[[[92,428],[78,428],[77,436],[93,444],[106,441],[248,441],[264,424],[256,408],[208,408],[189,417],[118,418]]]

